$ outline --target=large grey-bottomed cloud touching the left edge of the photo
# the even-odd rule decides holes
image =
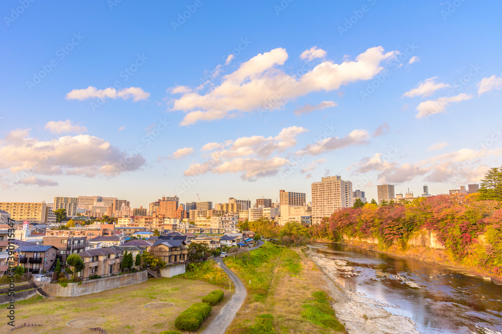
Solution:
[[[29,170],[40,175],[111,177],[145,165],[145,158],[140,154],[130,156],[101,138],[76,135],[39,141],[29,137],[28,131],[11,131],[0,143],[0,170],[9,169],[12,173]]]

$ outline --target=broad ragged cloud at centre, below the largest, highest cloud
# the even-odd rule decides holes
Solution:
[[[184,175],[240,173],[241,179],[247,181],[276,175],[290,163],[278,155],[296,146],[296,137],[306,131],[302,127],[292,126],[282,129],[275,137],[255,135],[222,143],[207,143],[201,148],[201,151],[208,152],[207,160],[192,163]]]

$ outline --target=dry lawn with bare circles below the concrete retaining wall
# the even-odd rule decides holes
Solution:
[[[23,322],[42,324],[40,327],[16,329],[15,334],[28,333],[82,333],[91,332],[87,328],[72,328],[66,322],[82,317],[104,317],[101,324],[107,333],[149,333],[175,330],[174,320],[183,310],[209,292],[215,285],[179,277],[151,278],[146,282],[120,287],[78,297],[42,298],[35,296],[16,302],[16,325]],[[211,315],[203,327],[219,313],[230,299],[228,291],[218,305],[213,306]],[[175,304],[164,309],[147,309],[147,303],[166,301]],[[0,333],[7,333],[11,326],[6,324],[6,305],[2,305]],[[201,328],[201,330],[203,329]]]

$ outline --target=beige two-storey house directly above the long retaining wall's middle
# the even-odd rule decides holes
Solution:
[[[109,276],[119,273],[122,263],[122,250],[113,247],[89,249],[78,253],[84,261],[84,269],[77,276],[84,279],[89,276]]]

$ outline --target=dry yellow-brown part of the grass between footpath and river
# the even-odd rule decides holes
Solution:
[[[337,333],[302,316],[305,303],[314,300],[312,294],[328,290],[323,274],[310,258],[300,249],[283,248],[273,260],[276,266],[266,299],[256,302],[248,296],[226,333],[259,332],[252,326],[261,321],[257,318],[261,314],[272,314],[272,324],[278,333]]]

